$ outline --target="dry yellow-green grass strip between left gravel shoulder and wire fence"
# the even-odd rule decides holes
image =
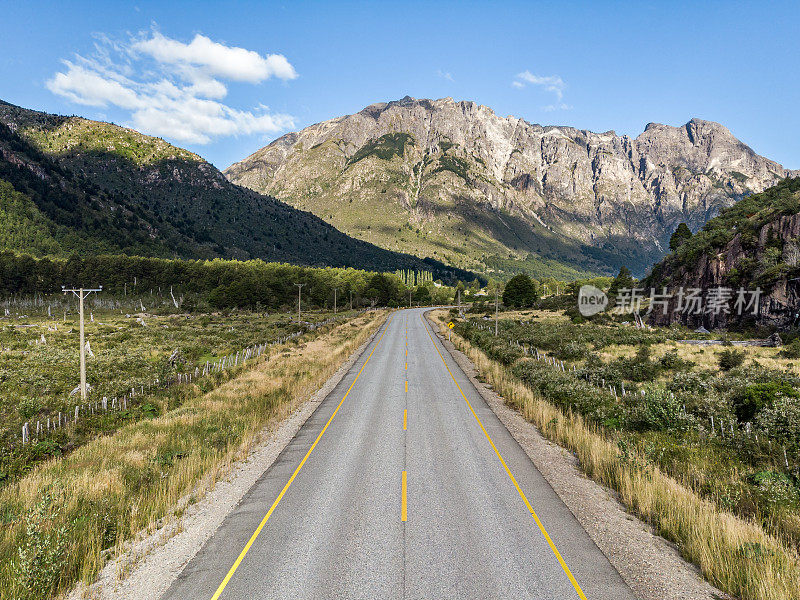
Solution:
[[[49,598],[91,582],[141,530],[200,498],[384,321],[370,312],[275,347],[165,414],[94,439],[0,490],[0,598]]]

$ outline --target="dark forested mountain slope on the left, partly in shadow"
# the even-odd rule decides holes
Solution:
[[[5,102],[0,216],[0,249],[33,254],[262,258],[471,279],[350,238],[160,138]]]

